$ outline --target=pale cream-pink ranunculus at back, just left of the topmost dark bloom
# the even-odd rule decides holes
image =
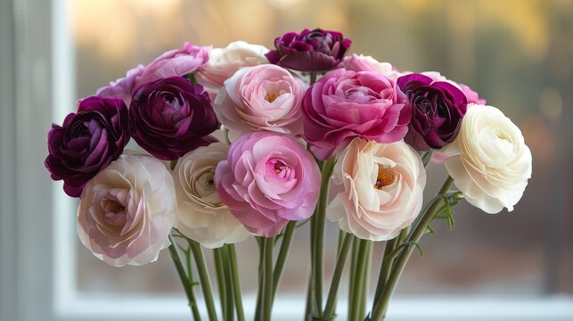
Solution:
[[[264,45],[251,45],[244,41],[235,41],[225,48],[215,48],[209,53],[209,62],[201,66],[196,74],[197,81],[204,86],[219,89],[226,79],[242,67],[252,67],[268,63]]]

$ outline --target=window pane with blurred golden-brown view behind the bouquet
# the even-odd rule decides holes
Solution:
[[[185,41],[217,47],[242,39],[271,47],[286,31],[315,26],[342,31],[354,41],[352,53],[372,55],[399,70],[439,70],[471,86],[521,128],[533,153],[533,178],[512,213],[488,215],[462,203],[454,209],[453,230],[434,224],[436,235],[422,239],[425,256],[413,254],[397,292],[573,293],[572,1],[77,0],[69,5],[78,98]],[[428,175],[426,199],[446,172],[433,164]],[[337,233],[337,226],[327,223],[325,280]],[[80,291],[182,292],[167,251],[139,268],[112,268],[79,243],[77,251]],[[238,251],[243,290],[255,291],[257,244],[250,239]],[[381,251],[382,243],[376,244],[373,276]],[[304,226],[296,232],[280,292],[305,291],[308,257]],[[211,280],[215,283],[214,275]]]

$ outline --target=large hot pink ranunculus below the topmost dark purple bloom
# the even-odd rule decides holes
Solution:
[[[333,70],[302,102],[304,137],[321,160],[343,150],[356,136],[379,143],[404,138],[410,103],[391,78],[372,71]]]

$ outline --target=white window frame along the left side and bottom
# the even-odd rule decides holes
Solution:
[[[76,290],[75,203],[41,165],[46,119],[60,122],[74,105],[66,8],[66,0],[0,2],[0,319],[190,320],[183,294],[94,296]],[[254,299],[245,297],[250,318]],[[344,303],[340,316],[346,315]],[[303,307],[303,295],[279,295],[274,316],[301,319]],[[389,310],[389,320],[510,319],[573,320],[573,296],[404,296],[393,300]]]

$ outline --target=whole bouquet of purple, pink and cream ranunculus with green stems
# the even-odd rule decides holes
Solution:
[[[348,265],[348,320],[384,319],[432,223],[454,226],[462,199],[487,213],[512,210],[531,177],[531,153],[520,128],[470,87],[345,56],[350,44],[323,29],[276,37],[274,50],[185,44],[81,99],[50,130],[45,159],[64,192],[79,198],[80,241],[116,267],[150,263],[168,249],[192,317],[201,319],[199,284],[212,321],[244,319],[234,243],[255,237],[254,309],[266,321],[293,235],[308,222],[301,317],[336,317]],[[130,138],[140,152],[127,151]],[[424,203],[432,159],[449,175]],[[326,218],[340,236],[323,284]],[[385,250],[367,307],[372,242]],[[214,251],[218,311],[203,248]]]

